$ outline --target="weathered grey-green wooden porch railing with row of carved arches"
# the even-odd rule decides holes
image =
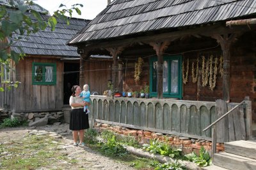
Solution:
[[[206,140],[211,140],[211,129],[205,132],[202,130],[225,114],[222,111],[226,110],[222,105],[222,109],[218,109],[219,106],[216,108],[215,102],[206,101],[105,96],[91,96],[91,100],[90,119],[95,122]],[[234,103],[230,104],[230,106],[234,105]],[[233,122],[234,126],[237,121],[241,122],[240,125],[244,125],[242,118],[244,112],[241,112],[242,108],[238,110],[236,116],[232,117],[234,119],[232,121],[230,119],[230,125]],[[223,122],[227,123],[227,120],[217,125],[221,132],[218,133],[218,142],[232,139],[225,137],[232,133],[232,129]],[[230,132],[221,130],[223,128],[230,129]],[[241,132],[241,136],[243,135],[244,132]]]

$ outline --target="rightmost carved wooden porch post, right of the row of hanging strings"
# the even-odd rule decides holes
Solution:
[[[236,40],[237,34],[214,34],[212,38],[217,39],[223,52],[223,100],[230,100],[230,47]]]

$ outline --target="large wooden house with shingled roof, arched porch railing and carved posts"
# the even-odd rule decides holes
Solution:
[[[230,109],[218,110],[215,101],[236,104],[249,96],[252,115],[246,116],[250,122],[246,128],[250,131],[250,120],[256,120],[255,14],[253,0],[112,1],[68,45],[81,51],[81,73],[90,67],[84,61],[90,55],[111,54],[114,89],[127,92],[149,85],[151,98],[92,97],[92,118],[209,139],[211,131],[205,134],[202,130]],[[140,57],[143,63],[138,68]],[[92,86],[102,82],[102,76],[80,74],[79,83]],[[227,129],[220,132],[218,141],[239,139],[227,135],[232,134],[228,131],[234,124],[224,121],[220,129]]]

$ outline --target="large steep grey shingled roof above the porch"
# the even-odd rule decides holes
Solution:
[[[68,44],[255,17],[255,13],[255,0],[114,0]]]

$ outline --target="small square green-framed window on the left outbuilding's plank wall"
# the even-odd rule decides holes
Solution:
[[[56,85],[56,63],[33,62],[32,67],[33,85]]]

